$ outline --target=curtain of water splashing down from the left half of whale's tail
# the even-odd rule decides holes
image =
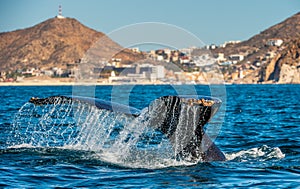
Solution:
[[[164,134],[147,126],[145,114],[147,110],[134,118],[78,101],[26,103],[13,120],[7,146],[93,151],[93,158],[126,167],[174,164],[172,145]]]

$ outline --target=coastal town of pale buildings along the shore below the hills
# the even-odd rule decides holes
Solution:
[[[225,48],[227,45],[238,44],[240,41],[229,41],[217,45],[207,45],[202,48],[191,47],[179,50],[158,49],[148,52],[141,52],[138,47],[130,50],[135,53],[146,55],[145,60],[133,64],[123,64],[121,58],[112,58],[102,62],[102,67],[94,67],[92,77],[97,79],[99,84],[114,83],[184,83],[184,84],[207,84],[207,73],[216,65],[221,70],[224,79],[236,81],[243,79],[246,75],[258,70],[276,56],[282,50],[282,39],[270,39],[266,42],[271,51],[245,62],[250,52],[225,55],[223,52],[213,54],[218,48]],[[200,55],[199,55],[200,52]],[[142,63],[141,63],[142,62]],[[55,78],[59,81],[75,82],[76,74],[80,72],[80,62],[67,64],[66,68],[52,67],[43,69],[39,67],[28,67],[15,72],[1,72],[0,82],[24,81],[37,82],[38,78]],[[175,70],[168,70],[165,67],[173,65]]]

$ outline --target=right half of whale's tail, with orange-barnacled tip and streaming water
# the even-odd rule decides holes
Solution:
[[[221,103],[221,100],[212,97],[161,97],[149,106],[150,125],[161,130],[170,139],[178,158],[224,161],[224,154],[205,134],[203,128]]]

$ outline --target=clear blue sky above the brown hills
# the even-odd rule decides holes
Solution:
[[[140,22],[173,24],[206,44],[246,40],[300,11],[299,0],[0,0],[0,32],[57,15],[111,32]]]

